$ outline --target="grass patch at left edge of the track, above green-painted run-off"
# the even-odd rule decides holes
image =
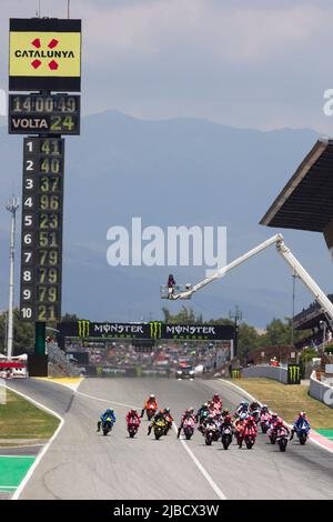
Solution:
[[[7,390],[0,404],[0,439],[50,439],[59,419]]]

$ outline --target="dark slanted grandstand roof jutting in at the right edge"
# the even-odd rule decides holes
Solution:
[[[317,140],[260,224],[323,232],[333,220],[333,140]]]

